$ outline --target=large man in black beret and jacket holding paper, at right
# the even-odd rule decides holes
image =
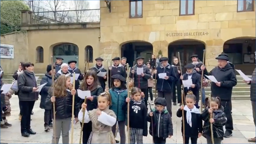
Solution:
[[[226,131],[224,137],[231,137],[234,129],[231,114],[231,96],[232,89],[237,84],[236,73],[234,67],[228,63],[228,57],[220,55],[215,59],[218,60],[218,66],[213,68],[209,75],[214,76],[218,82],[211,82],[211,95],[221,98],[221,105],[224,107],[224,113],[228,119],[225,125]],[[205,66],[201,66],[201,69],[205,69]]]

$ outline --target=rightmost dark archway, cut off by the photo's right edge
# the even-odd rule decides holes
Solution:
[[[223,52],[236,69],[251,75],[255,68],[255,47],[255,37],[237,37],[224,43]]]

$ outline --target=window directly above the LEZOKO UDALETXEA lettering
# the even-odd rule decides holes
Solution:
[[[180,15],[194,15],[195,0],[180,0]]]

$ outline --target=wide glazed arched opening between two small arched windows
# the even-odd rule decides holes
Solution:
[[[58,44],[53,47],[53,57],[62,57],[63,63],[68,63],[70,60],[76,60],[78,66],[78,46],[72,43]]]

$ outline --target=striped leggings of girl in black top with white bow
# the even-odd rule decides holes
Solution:
[[[143,129],[135,129],[130,127],[130,144],[143,144]]]

